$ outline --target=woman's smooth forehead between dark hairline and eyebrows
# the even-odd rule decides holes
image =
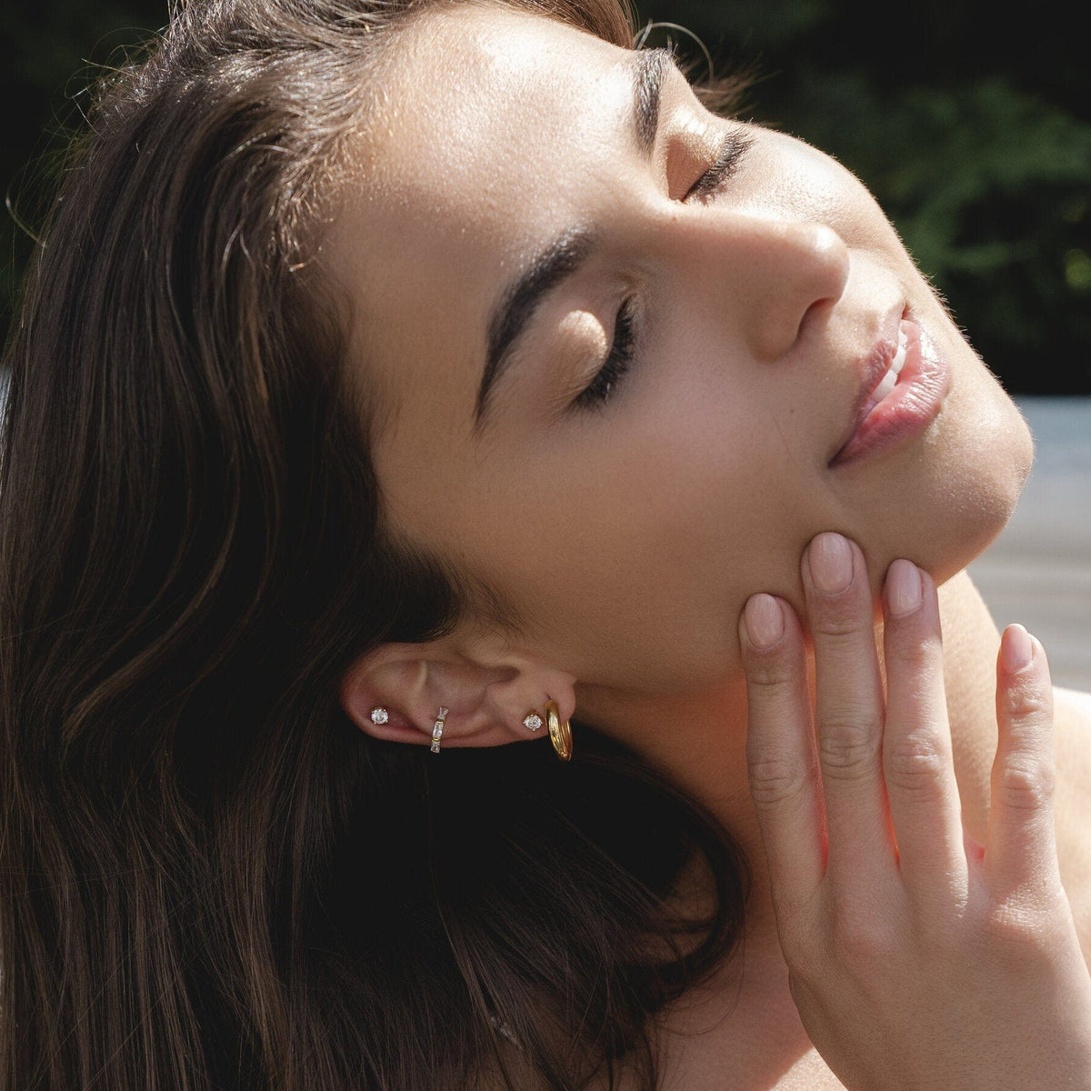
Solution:
[[[590,176],[619,169],[631,56],[487,5],[428,14],[394,46],[326,251],[352,357],[395,416],[422,361],[448,410],[472,416],[492,307],[587,218]]]

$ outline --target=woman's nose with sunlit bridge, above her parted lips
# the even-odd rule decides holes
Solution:
[[[693,230],[702,290],[719,293],[717,310],[758,360],[781,359],[844,292],[849,249],[825,224],[717,211]]]

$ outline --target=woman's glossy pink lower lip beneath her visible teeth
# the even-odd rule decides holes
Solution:
[[[932,338],[912,320],[903,320],[906,363],[885,398],[866,410],[848,442],[830,459],[846,466],[919,435],[936,419],[950,388],[950,369]]]

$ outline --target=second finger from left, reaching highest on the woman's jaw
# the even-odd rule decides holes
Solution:
[[[829,872],[868,887],[895,867],[883,784],[883,691],[860,548],[822,533],[803,560],[814,640],[818,762]]]

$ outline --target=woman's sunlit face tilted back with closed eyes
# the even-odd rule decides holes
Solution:
[[[801,604],[816,532],[877,582],[1003,526],[1022,419],[831,158],[706,112],[661,53],[503,9],[425,16],[392,69],[327,244],[351,377],[391,525],[536,655],[703,686],[751,594]]]

